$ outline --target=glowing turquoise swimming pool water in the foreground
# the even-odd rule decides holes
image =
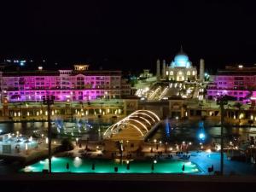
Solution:
[[[67,167],[68,163],[68,167]],[[92,166],[95,169],[92,169]],[[153,166],[154,165],[154,166]],[[52,172],[75,172],[75,173],[197,173],[199,168],[190,161],[183,160],[131,160],[127,169],[127,161],[119,160],[90,160],[79,157],[52,158]],[[183,169],[184,166],[184,169]],[[114,169],[118,167],[118,171]],[[42,172],[48,169],[48,159],[26,166],[20,172]],[[68,168],[68,169],[67,169]]]

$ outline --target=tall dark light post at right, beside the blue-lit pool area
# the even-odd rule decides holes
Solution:
[[[223,129],[224,129],[224,105],[228,104],[228,100],[226,96],[220,96],[217,99],[217,104],[220,106],[220,173],[221,175],[224,174],[224,139],[223,139]]]

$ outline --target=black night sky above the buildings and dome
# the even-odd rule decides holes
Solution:
[[[253,1],[7,1],[0,3],[0,58],[154,69],[180,44],[207,68],[256,63]],[[66,3],[67,2],[67,3]],[[155,69],[154,69],[155,70]]]

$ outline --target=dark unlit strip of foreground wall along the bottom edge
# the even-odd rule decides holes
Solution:
[[[256,191],[256,177],[123,174],[20,174],[0,177],[1,191]],[[3,190],[2,190],[3,189]]]

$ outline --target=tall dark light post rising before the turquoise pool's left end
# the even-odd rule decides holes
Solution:
[[[48,158],[49,174],[51,174],[51,122],[50,122],[50,105],[54,104],[54,96],[43,96],[43,104],[47,105],[48,115]]]

